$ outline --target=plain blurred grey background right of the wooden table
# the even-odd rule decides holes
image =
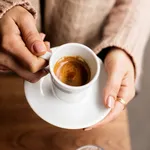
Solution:
[[[150,150],[150,40],[143,59],[139,91],[128,105],[132,150]]]

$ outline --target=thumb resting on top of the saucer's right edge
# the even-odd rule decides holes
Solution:
[[[108,79],[106,86],[104,88],[104,103],[109,108],[114,108],[115,100],[117,98],[121,83],[122,83],[123,73],[117,71],[116,69],[111,69],[108,72]]]

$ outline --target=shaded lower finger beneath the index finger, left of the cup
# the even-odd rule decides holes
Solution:
[[[45,76],[48,72],[46,70],[40,70],[37,73],[31,73],[25,68],[23,68],[21,65],[19,65],[12,56],[9,56],[8,54],[0,53],[1,63],[3,63],[3,66],[6,68],[11,69],[15,73],[17,73],[20,77],[23,79],[35,83],[37,82],[41,77]],[[7,63],[4,64],[4,60],[7,60]]]

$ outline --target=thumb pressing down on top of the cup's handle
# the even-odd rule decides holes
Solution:
[[[37,31],[35,20],[29,13],[25,19],[19,20],[18,26],[27,48],[36,56],[43,55],[47,48]]]

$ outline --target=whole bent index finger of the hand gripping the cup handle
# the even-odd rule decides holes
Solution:
[[[47,65],[47,62],[33,55],[19,35],[19,29],[13,20],[4,21],[2,26],[1,49],[15,56],[20,64],[35,73]],[[12,34],[13,33],[13,34]],[[45,45],[45,44],[44,44]],[[45,46],[46,47],[46,46]]]

